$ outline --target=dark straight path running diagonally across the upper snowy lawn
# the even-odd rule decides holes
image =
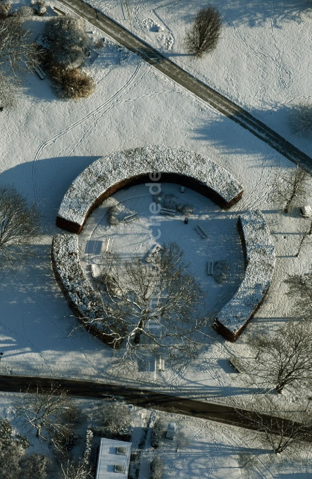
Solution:
[[[196,80],[191,74],[175,65],[175,63],[168,58],[162,56],[161,53],[154,50],[134,34],[130,33],[123,26],[105,16],[103,13],[100,13],[87,3],[84,3],[82,0],[59,1],[83,16],[105,34],[110,35],[117,43],[136,53],[164,73],[167,77],[176,81],[188,91],[194,93],[215,110],[218,110],[238,125],[241,125],[243,128],[250,131],[254,136],[265,141],[270,147],[278,151],[278,153],[285,156],[290,161],[296,164],[300,163],[305,168],[312,170],[312,158],[289,143],[285,138],[278,135],[278,133],[266,126],[260,120],[254,118],[253,115],[243,110],[243,108],[231,102],[228,98],[217,91],[212,90],[200,80]]]

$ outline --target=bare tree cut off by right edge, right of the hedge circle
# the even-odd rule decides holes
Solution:
[[[296,316],[312,319],[312,271],[306,274],[293,274],[285,280],[289,286],[287,296],[293,301]]]

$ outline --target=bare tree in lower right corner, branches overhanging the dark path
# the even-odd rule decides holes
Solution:
[[[287,411],[281,409],[278,401],[270,395],[256,394],[248,403],[248,410],[237,406],[236,411],[243,422],[252,424],[254,431],[260,433],[257,438],[275,454],[288,449],[292,453],[310,447],[312,439],[312,411],[310,403],[304,406],[288,405]],[[254,433],[246,430],[245,438],[254,444]]]

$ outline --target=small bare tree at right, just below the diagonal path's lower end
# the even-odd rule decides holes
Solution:
[[[281,171],[277,169],[275,174],[274,192],[271,199],[278,205],[284,206],[284,212],[306,203],[308,187],[311,183],[311,174],[300,168],[291,168]]]

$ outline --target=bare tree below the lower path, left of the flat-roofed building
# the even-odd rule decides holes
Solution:
[[[64,423],[64,410],[71,408],[67,391],[58,385],[51,384],[48,390],[37,388],[35,393],[21,393],[19,415],[23,420],[36,429],[36,437],[46,439],[42,430],[46,430],[53,441],[54,435],[66,435],[70,424]],[[54,442],[58,448],[58,442]]]

